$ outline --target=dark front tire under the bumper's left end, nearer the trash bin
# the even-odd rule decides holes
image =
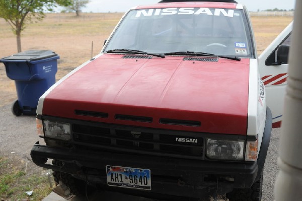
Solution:
[[[57,160],[52,160],[52,164],[55,166],[62,166],[62,162]],[[65,184],[74,195],[85,196],[86,189],[87,193],[91,193],[93,191],[92,187],[86,184],[85,181],[74,178],[71,174],[53,171],[52,175],[56,185],[59,184],[59,181],[62,181],[62,183]]]

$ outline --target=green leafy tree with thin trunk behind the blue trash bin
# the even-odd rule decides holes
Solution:
[[[0,0],[0,18],[4,18],[17,36],[18,52],[21,52],[21,32],[33,20],[41,21],[44,11],[53,11],[56,5],[68,6],[70,0]]]

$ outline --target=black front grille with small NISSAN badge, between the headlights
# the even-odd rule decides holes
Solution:
[[[202,159],[200,133],[112,124],[72,124],[74,144],[89,149],[117,150],[147,155]]]

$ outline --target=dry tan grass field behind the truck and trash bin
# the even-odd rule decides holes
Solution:
[[[29,24],[22,34],[22,50],[51,49],[60,55],[59,80],[68,72],[102,49],[104,40],[122,17],[121,13],[47,14],[39,23]],[[252,17],[258,54],[292,21],[292,17]],[[16,37],[10,26],[0,19],[0,58],[16,53]],[[11,104],[17,98],[15,83],[6,76],[4,64],[0,63],[0,106]]]

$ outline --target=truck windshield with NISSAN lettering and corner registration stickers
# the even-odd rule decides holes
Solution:
[[[251,57],[242,10],[167,8],[131,10],[104,52],[133,49],[149,53],[206,52]]]

